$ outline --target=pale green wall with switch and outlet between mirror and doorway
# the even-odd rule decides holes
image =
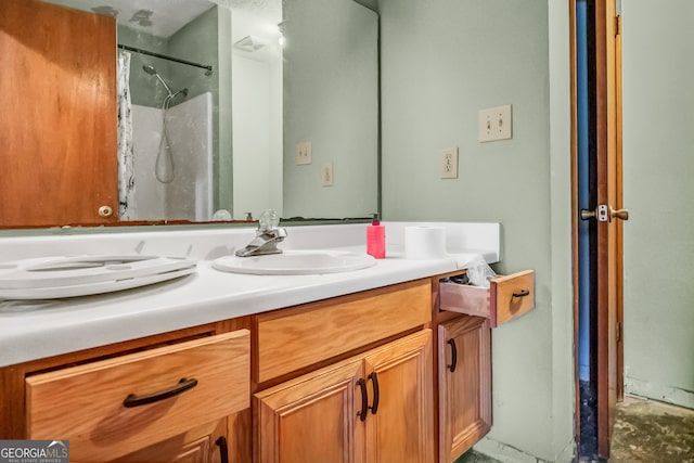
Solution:
[[[480,447],[570,461],[573,306],[567,2],[380,0],[386,220],[499,221],[500,273],[536,271],[536,310],[492,334],[493,428]],[[513,139],[477,112],[513,104]],[[455,180],[439,153],[459,146]],[[511,456],[510,456],[511,455]]]

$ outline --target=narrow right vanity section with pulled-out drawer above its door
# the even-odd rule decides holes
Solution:
[[[491,429],[491,329],[535,308],[535,272],[491,280],[489,288],[432,281],[436,326],[438,461],[450,463]]]

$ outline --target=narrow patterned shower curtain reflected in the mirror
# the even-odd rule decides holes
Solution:
[[[134,219],[134,168],[130,102],[130,53],[118,52],[118,219]]]

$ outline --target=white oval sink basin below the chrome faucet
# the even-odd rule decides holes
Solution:
[[[224,256],[213,261],[223,272],[257,275],[306,275],[349,272],[374,266],[376,260],[367,254],[346,250],[285,250],[282,254],[237,257]]]

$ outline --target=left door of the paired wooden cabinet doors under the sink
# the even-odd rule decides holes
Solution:
[[[361,361],[323,369],[255,396],[256,461],[364,461]]]

